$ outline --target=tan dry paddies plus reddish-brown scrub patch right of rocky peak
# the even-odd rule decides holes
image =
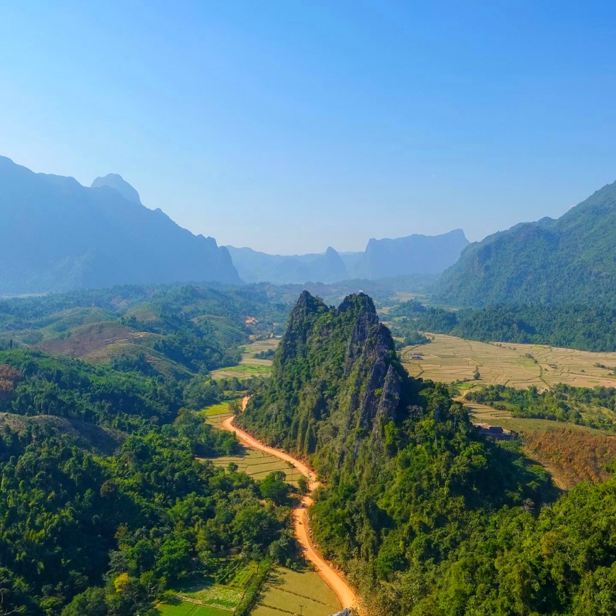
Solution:
[[[548,389],[556,383],[575,387],[616,387],[616,353],[592,353],[531,344],[487,344],[428,334],[429,344],[402,350],[402,361],[411,376],[457,383],[461,400],[475,423],[501,426],[522,435],[524,452],[545,467],[554,483],[569,489],[584,480],[605,480],[604,467],[616,455],[616,438],[576,424],[546,419],[513,417],[511,411],[466,400],[469,389],[508,385]],[[421,354],[421,359],[412,355]],[[600,364],[606,366],[601,368]],[[474,378],[479,372],[479,378]],[[582,414],[584,409],[580,408]],[[610,412],[604,409],[604,412]]]

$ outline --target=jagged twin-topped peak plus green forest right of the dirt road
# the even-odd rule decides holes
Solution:
[[[446,389],[410,379],[367,296],[303,293],[242,426],[324,480],[316,541],[368,613],[593,613],[616,601],[616,483],[556,502],[515,444],[480,437]]]

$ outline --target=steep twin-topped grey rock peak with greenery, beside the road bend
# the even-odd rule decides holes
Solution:
[[[344,463],[359,441],[383,445],[412,397],[372,299],[348,296],[337,308],[304,291],[274,358],[272,385],[255,396],[240,422],[287,450]]]

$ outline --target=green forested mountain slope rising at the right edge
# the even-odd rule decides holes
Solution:
[[[613,303],[616,183],[553,220],[517,224],[463,251],[435,287],[457,306]]]

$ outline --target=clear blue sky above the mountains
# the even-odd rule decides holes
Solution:
[[[220,244],[361,250],[616,179],[616,3],[0,3],[0,154]]]

